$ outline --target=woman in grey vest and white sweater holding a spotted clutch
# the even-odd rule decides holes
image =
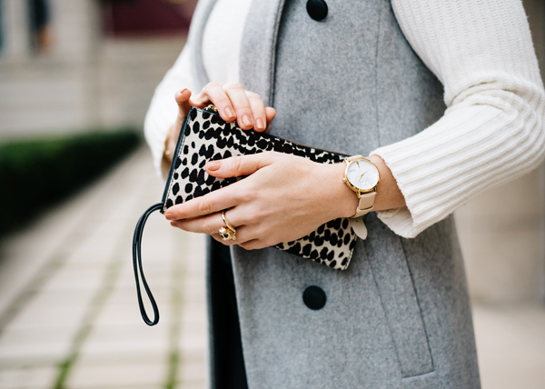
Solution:
[[[146,118],[158,168],[169,128],[172,152],[189,105],[209,101],[243,129],[372,155],[381,178],[346,271],[268,247],[355,213],[343,164],[210,163],[211,175],[249,176],[170,208],[174,226],[232,246],[233,284],[217,245],[207,262],[212,386],[479,387],[451,213],[543,157],[545,94],[520,1],[202,0]],[[236,241],[217,234],[223,209]]]

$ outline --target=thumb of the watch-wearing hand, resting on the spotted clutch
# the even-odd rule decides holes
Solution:
[[[255,155],[237,155],[219,161],[209,161],[206,172],[214,177],[228,178],[241,175],[252,175],[259,169],[271,165],[272,153],[260,153]],[[233,185],[231,185],[233,186]]]

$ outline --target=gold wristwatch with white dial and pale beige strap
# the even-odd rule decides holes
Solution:
[[[379,185],[379,169],[362,155],[353,155],[344,160],[346,168],[342,182],[348,185],[360,199],[356,213],[351,217],[360,217],[372,211],[374,198]]]

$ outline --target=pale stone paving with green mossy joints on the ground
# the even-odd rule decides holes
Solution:
[[[161,310],[138,310],[134,224],[161,199],[149,152],[0,242],[0,389],[205,387],[203,236],[146,224],[144,270]],[[477,305],[484,389],[545,388],[545,309]]]

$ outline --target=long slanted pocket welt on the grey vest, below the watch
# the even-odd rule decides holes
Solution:
[[[377,219],[366,224],[377,232],[365,241],[367,257],[390,327],[403,378],[431,373],[428,336],[400,238]],[[381,230],[381,231],[377,231]]]

